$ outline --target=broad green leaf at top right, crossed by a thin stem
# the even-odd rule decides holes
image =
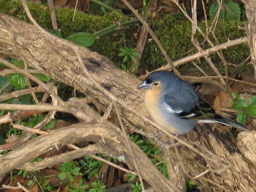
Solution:
[[[209,8],[210,20],[214,20],[218,12],[218,9],[219,9],[218,2],[215,1],[213,4],[211,4]],[[238,3],[233,2],[231,0],[222,2],[222,7],[219,14],[220,20],[226,20],[226,21],[240,20],[240,15],[241,15],[241,11]]]

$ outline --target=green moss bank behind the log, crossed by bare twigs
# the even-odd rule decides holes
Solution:
[[[50,19],[50,12],[47,5],[39,5],[28,3],[29,10],[33,17],[40,26],[47,30],[52,30]],[[28,21],[26,14],[23,11],[20,0],[0,0],[0,12],[12,15],[20,20]],[[108,13],[104,16],[94,16],[82,12],[76,12],[74,22],[72,21],[74,14],[73,9],[57,8],[56,20],[58,27],[61,29],[63,38],[70,34],[77,32],[94,33],[103,28],[125,21],[126,19],[118,13]],[[196,49],[191,43],[191,23],[187,20],[175,19],[170,14],[158,14],[156,18],[149,20],[151,28],[156,36],[162,42],[171,60],[178,60],[190,54],[196,53]],[[211,25],[211,23],[209,23]],[[201,22],[198,26],[205,31],[205,23]],[[215,29],[216,38],[219,43],[226,42],[227,40],[234,40],[246,36],[244,30],[238,30],[238,26],[243,26],[240,21],[218,21]],[[90,47],[92,51],[105,55],[110,60],[113,60],[117,65],[122,62],[122,58],[118,56],[119,48],[123,46],[135,47],[137,40],[134,33],[137,33],[138,27],[130,27],[128,29],[121,29],[117,33],[105,36],[95,41],[93,46]],[[204,38],[198,32],[195,37],[202,42]],[[214,38],[209,35],[209,38],[214,44]],[[148,39],[151,39],[148,36]],[[208,43],[202,45],[203,49],[209,48]],[[246,44],[229,47],[223,50],[223,54],[228,63],[238,64],[249,56],[249,48]],[[217,54],[212,54],[212,61],[224,73],[224,66]],[[195,60],[196,64],[202,67],[207,73],[212,73],[211,68],[204,59]],[[153,40],[148,40],[141,58],[141,69],[153,70],[166,64],[166,60],[162,56],[161,51]],[[234,68],[234,67],[232,67]],[[179,67],[182,73],[195,72],[196,69],[190,63]],[[250,65],[243,66],[234,70],[234,72],[253,73],[253,67]]]

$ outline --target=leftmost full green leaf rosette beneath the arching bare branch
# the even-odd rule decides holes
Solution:
[[[79,175],[80,167],[75,167],[74,164],[70,161],[67,161],[65,163],[61,163],[61,167],[59,167],[59,170],[61,170],[61,173],[58,175],[58,177],[62,180],[66,179],[67,176],[69,177],[69,180],[71,182],[74,182],[74,175]]]

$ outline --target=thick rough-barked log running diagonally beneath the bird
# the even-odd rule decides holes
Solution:
[[[88,95],[91,101],[102,111],[111,102],[103,93],[94,88],[82,72],[70,47],[65,43],[55,42],[48,38],[34,26],[5,14],[0,14],[0,51],[15,58],[26,60],[29,66],[33,66],[57,81],[76,86],[77,90]],[[140,83],[138,79],[117,68],[107,58],[86,48],[79,47],[79,53],[85,66],[97,82],[116,97],[123,99],[127,105],[148,116],[143,105],[143,93],[136,89]],[[143,128],[143,131],[147,133],[157,132],[155,128],[146,125],[139,117],[125,108],[121,108],[120,111],[122,118],[128,120],[133,126]],[[175,180],[172,180],[172,183],[178,188],[184,190],[185,186],[181,174],[192,178],[209,169],[209,172],[195,179],[203,191],[256,191],[255,164],[247,159],[249,154],[243,155],[245,153],[239,151],[236,146],[236,138],[229,129],[223,131],[223,127],[221,128],[212,129],[209,125],[200,125],[195,131],[181,136],[183,140],[194,142],[195,146],[209,157],[214,159],[216,156],[213,154],[216,154],[219,157],[216,159],[217,163],[203,159],[185,146],[177,145],[176,150],[172,148],[164,151],[169,169],[173,167],[174,172],[170,172],[170,175]],[[246,134],[248,134],[248,140],[255,143],[255,132],[247,132]],[[161,140],[170,142],[168,138],[164,137]],[[248,149],[252,147],[247,143],[243,143],[242,147],[244,145]],[[238,147],[241,146],[238,145]],[[213,154],[206,152],[206,149]],[[249,151],[255,155],[255,150]],[[161,189],[156,191],[161,191]]]

